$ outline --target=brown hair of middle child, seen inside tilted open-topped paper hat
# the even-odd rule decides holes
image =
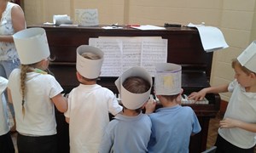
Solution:
[[[128,77],[125,79],[125,82],[123,82],[123,87],[133,94],[143,94],[150,88],[150,83],[142,77]],[[140,113],[142,108],[138,108],[135,111]]]

